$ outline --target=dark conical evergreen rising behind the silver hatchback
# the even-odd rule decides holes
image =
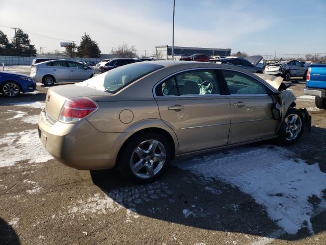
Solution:
[[[81,58],[99,58],[100,54],[101,50],[98,43],[85,32],[77,47],[77,56]]]

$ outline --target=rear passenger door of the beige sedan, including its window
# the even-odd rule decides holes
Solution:
[[[213,69],[180,72],[155,88],[161,119],[176,133],[179,153],[226,145],[230,102]]]

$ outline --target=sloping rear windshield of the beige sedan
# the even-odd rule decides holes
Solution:
[[[89,87],[101,91],[116,93],[128,84],[161,68],[164,68],[164,66],[137,62],[109,70],[85,81],[84,83]]]

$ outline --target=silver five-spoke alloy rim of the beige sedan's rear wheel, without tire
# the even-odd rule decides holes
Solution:
[[[152,178],[162,169],[166,158],[166,149],[161,142],[154,139],[145,140],[131,154],[132,173],[142,179]]]

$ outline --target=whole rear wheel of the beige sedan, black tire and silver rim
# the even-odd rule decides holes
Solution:
[[[170,159],[171,148],[166,137],[158,133],[144,133],[124,145],[118,168],[132,182],[150,183],[162,174]]]

